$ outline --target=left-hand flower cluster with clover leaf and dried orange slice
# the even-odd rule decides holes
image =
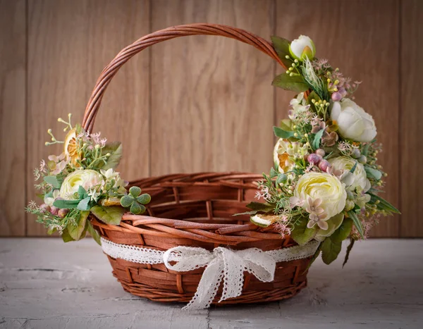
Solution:
[[[71,114],[68,121],[58,121],[68,131],[64,141],[57,140],[49,129],[51,142],[45,144],[63,144],[63,152],[35,168],[35,180],[39,181],[35,187],[44,203],[38,206],[31,201],[26,211],[35,214],[49,234],[59,232],[64,242],[80,240],[88,231],[100,244],[99,233],[88,220],[90,213],[104,223],[118,225],[125,208],[143,213],[151,197],[136,186],[130,187],[128,194],[128,182],[114,170],[122,156],[120,142],[107,143],[99,132],[73,127]]]

